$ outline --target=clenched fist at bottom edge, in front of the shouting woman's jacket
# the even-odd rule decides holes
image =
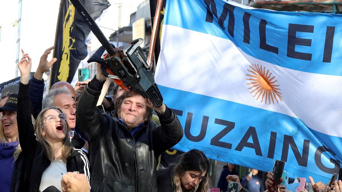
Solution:
[[[63,192],[89,192],[90,185],[86,175],[68,172],[62,176]]]

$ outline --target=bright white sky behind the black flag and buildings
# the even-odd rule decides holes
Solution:
[[[111,6],[98,24],[106,37],[118,26],[118,6],[137,7],[144,0],[108,0]],[[13,24],[18,20],[18,0],[0,1],[0,83],[15,78],[18,27]],[[32,58],[32,69],[36,71],[40,56],[54,45],[56,24],[60,0],[22,0],[22,22],[20,49]],[[136,10],[136,9],[135,9]],[[133,13],[134,9],[131,10]],[[127,13],[128,15],[131,13]],[[106,29],[106,28],[110,29]],[[93,41],[95,41],[93,39]],[[93,43],[93,45],[97,45]],[[95,49],[94,46],[92,50]],[[19,59],[21,58],[19,55]],[[52,59],[52,53],[48,60]],[[20,72],[18,72],[20,76]]]

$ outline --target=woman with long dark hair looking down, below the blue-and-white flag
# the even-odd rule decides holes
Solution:
[[[157,171],[158,192],[208,192],[209,161],[206,155],[192,149],[180,156],[180,162]]]

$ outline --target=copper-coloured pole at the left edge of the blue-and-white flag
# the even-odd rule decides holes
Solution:
[[[148,51],[148,56],[147,56],[147,65],[150,67],[150,69],[152,69],[152,65],[153,65],[154,47],[156,45],[159,16],[160,16],[160,10],[161,10],[162,4],[163,4],[163,0],[157,1],[157,9],[154,15],[155,19],[153,21],[151,41],[150,41],[150,46],[149,46],[149,51]]]

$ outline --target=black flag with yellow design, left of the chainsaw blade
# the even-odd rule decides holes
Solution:
[[[110,4],[107,0],[81,0],[95,20]],[[90,33],[89,27],[76,13],[69,0],[61,0],[55,38],[54,57],[57,58],[51,72],[50,87],[58,81],[71,83],[81,60],[88,55],[85,43]]]

